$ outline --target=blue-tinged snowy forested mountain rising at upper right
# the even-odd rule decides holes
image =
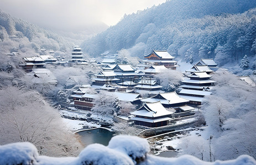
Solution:
[[[82,43],[85,52],[128,49],[132,56],[168,50],[175,57],[215,58],[219,64],[254,56],[256,1],[173,0],[124,18]],[[242,14],[241,14],[242,13]]]

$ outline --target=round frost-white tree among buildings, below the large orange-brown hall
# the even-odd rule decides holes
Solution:
[[[163,86],[167,92],[175,91],[180,82],[183,80],[181,72],[173,69],[166,69],[156,76],[156,80]]]

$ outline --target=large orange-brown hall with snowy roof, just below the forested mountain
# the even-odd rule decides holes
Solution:
[[[176,69],[179,67],[177,62],[174,61],[174,57],[171,56],[167,51],[155,51],[153,50],[151,53],[144,55],[146,60],[145,64],[153,63],[154,65],[164,65],[166,68]]]

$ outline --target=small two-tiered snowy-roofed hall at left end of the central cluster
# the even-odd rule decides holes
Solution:
[[[116,78],[117,74],[113,71],[101,71],[95,74],[96,78],[92,78],[93,85],[116,84],[119,79]]]

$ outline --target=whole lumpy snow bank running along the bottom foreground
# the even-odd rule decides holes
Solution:
[[[145,139],[135,136],[114,136],[108,146],[100,144],[88,145],[79,157],[54,158],[39,156],[34,145],[20,142],[0,146],[1,165],[101,165],[101,164],[186,164],[186,165],[256,165],[256,161],[248,156],[239,156],[236,160],[203,162],[196,157],[184,155],[178,158],[164,158],[148,155],[149,144]]]

